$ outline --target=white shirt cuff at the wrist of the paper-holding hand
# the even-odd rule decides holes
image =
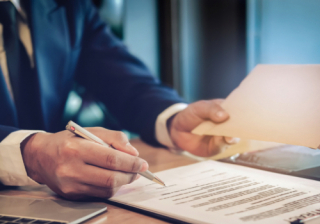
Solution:
[[[177,103],[165,109],[161,114],[158,115],[156,120],[156,139],[162,145],[167,146],[170,151],[178,152],[176,146],[173,144],[169,130],[167,128],[167,120],[175,115],[176,113],[186,109],[188,104],[186,103]]]

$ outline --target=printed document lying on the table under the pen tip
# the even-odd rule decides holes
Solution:
[[[205,161],[140,178],[110,200],[191,223],[284,223],[320,213],[320,182]]]

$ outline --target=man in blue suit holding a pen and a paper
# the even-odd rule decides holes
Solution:
[[[0,0],[0,66],[6,185],[40,183],[69,199],[108,198],[148,169],[121,132],[88,129],[117,150],[57,132],[74,81],[149,144],[210,156],[233,142],[191,134],[204,120],[228,119],[221,101],[183,103],[110,33],[88,0]]]

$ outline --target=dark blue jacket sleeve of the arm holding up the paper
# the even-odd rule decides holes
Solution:
[[[85,33],[76,80],[104,102],[122,128],[152,145],[157,116],[183,100],[155,79],[86,4]]]

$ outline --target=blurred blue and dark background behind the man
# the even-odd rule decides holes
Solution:
[[[129,51],[189,102],[225,98],[259,63],[320,64],[319,0],[93,2]],[[65,108],[70,119],[119,129],[78,85]]]

